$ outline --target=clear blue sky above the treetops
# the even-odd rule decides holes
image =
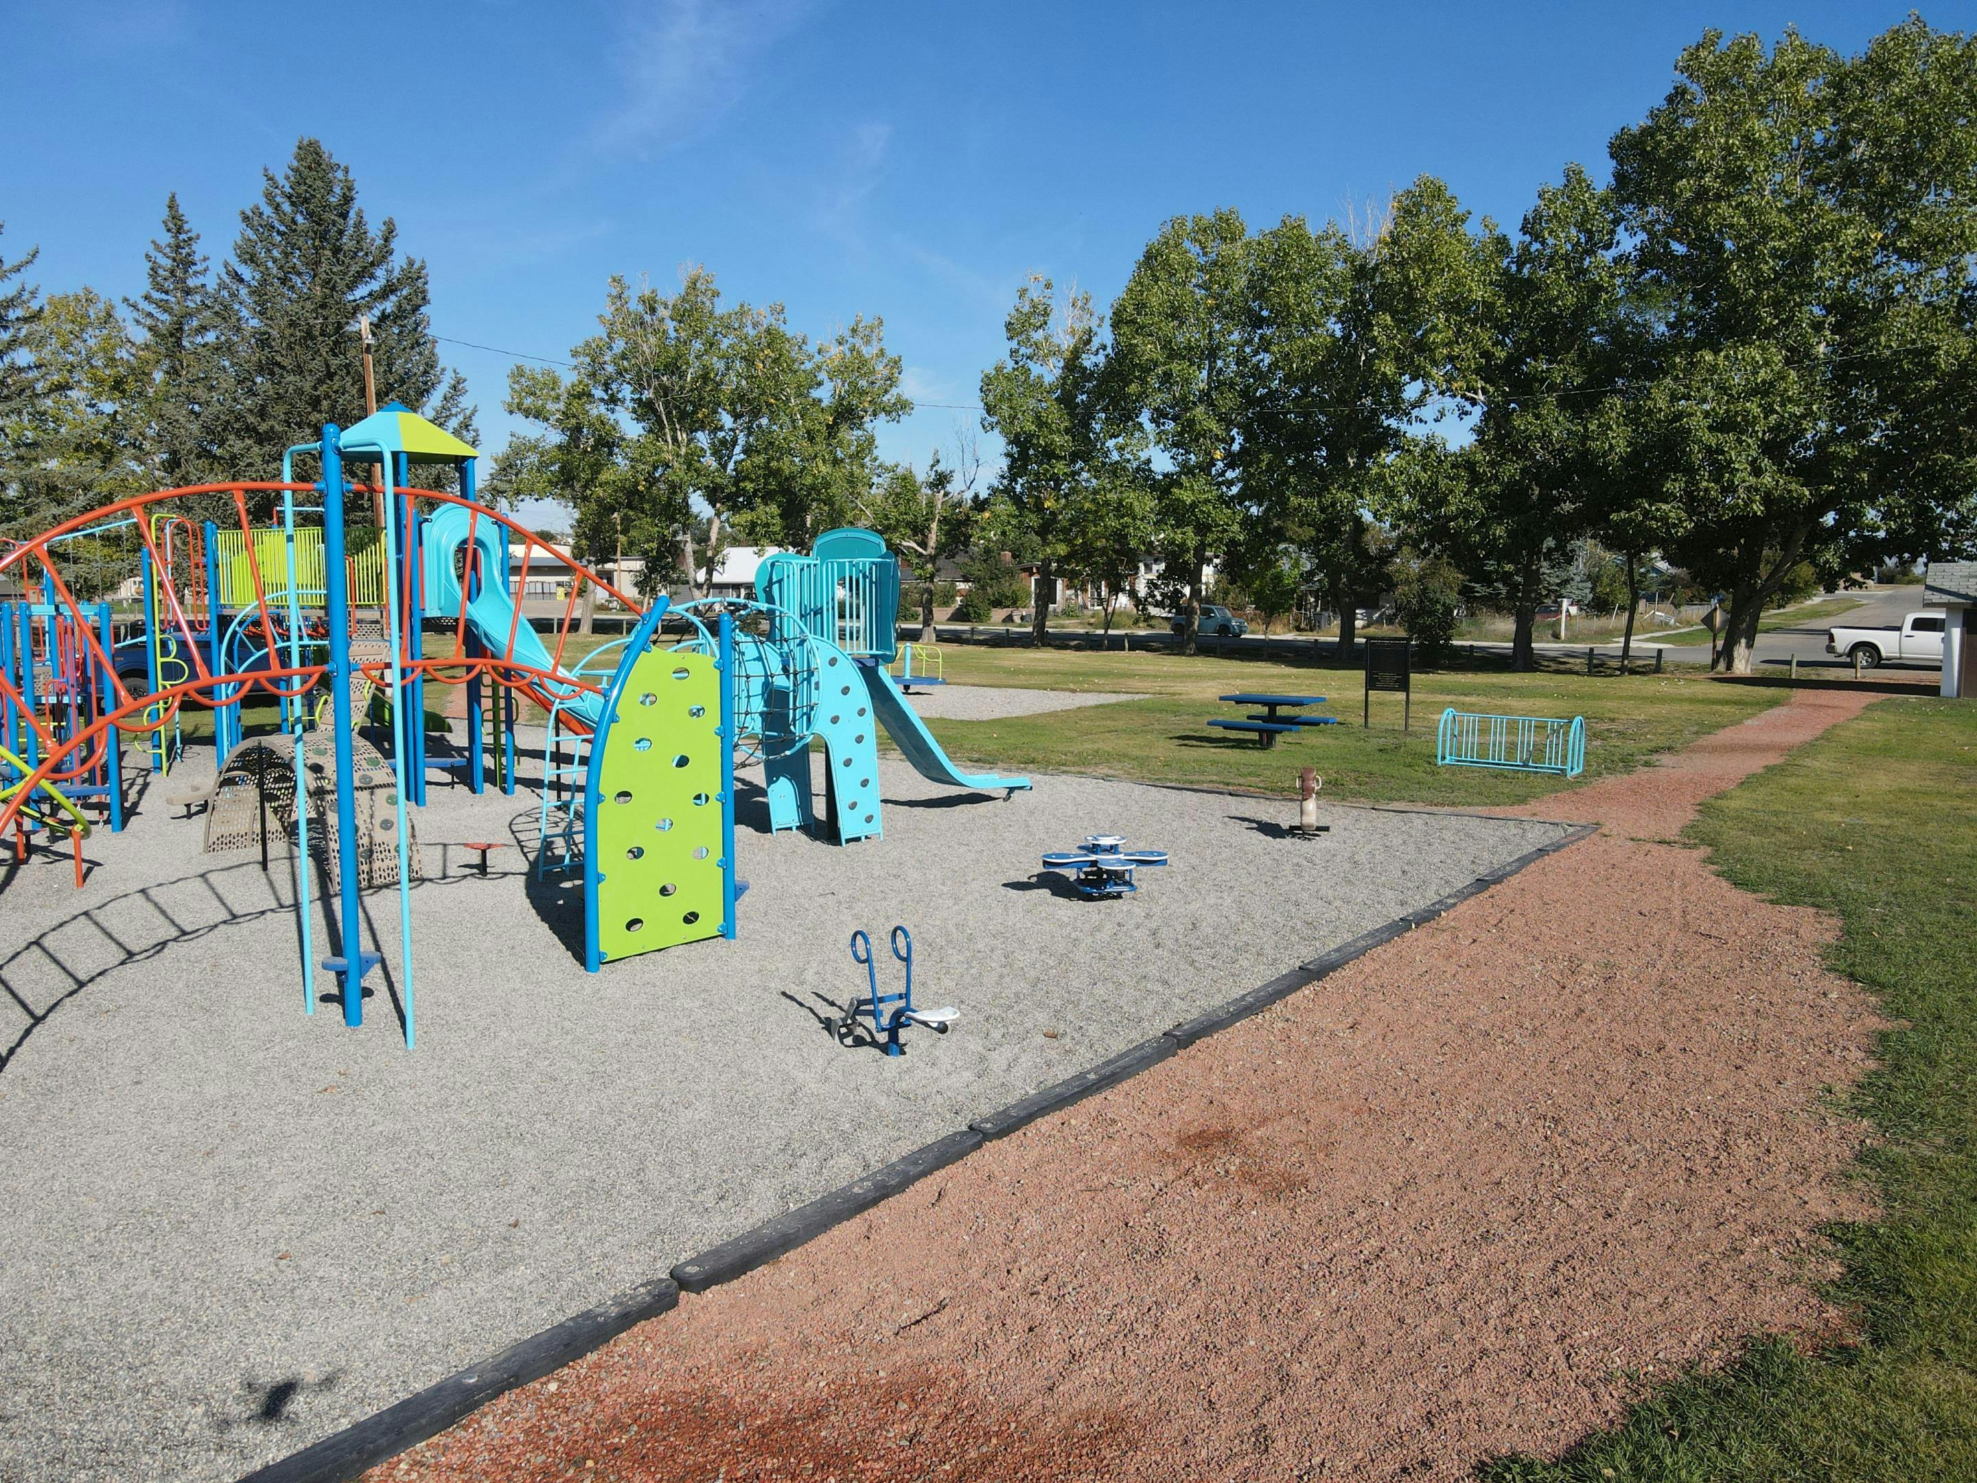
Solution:
[[[316,134],[429,261],[437,334],[563,356],[609,273],[670,287],[706,263],[811,334],[884,316],[921,409],[882,445],[919,463],[975,423],[1032,271],[1103,305],[1170,216],[1340,216],[1423,172],[1514,223],[1568,160],[1603,174],[1607,138],[1704,28],[1797,24],[1852,51],[1908,6],[8,10],[0,251],[40,243],[47,291],[134,293],[170,190],[217,259],[261,168]],[[1969,28],[1973,12],[1924,14]],[[510,360],[441,348],[498,449]]]

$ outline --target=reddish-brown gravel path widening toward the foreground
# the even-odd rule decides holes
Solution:
[[[1607,829],[376,1477],[1455,1479],[1833,1325],[1872,1006],[1657,840],[1862,704],[1534,805]]]

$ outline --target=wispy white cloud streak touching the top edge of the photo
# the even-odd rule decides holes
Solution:
[[[809,0],[660,0],[627,38],[625,99],[601,129],[617,148],[666,148],[731,109],[749,63],[809,14]]]

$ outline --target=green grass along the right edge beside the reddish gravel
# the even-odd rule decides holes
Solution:
[[[1852,1105],[1886,1218],[1833,1232],[1833,1297],[1864,1343],[1767,1339],[1688,1376],[1558,1463],[1489,1483],[1914,1483],[1977,1477],[1977,708],[1884,700],[1704,807],[1738,886],[1839,914],[1839,973],[1904,1028]]]

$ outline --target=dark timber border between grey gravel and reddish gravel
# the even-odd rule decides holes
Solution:
[[[959,1163],[985,1143],[1008,1137],[1040,1117],[1064,1111],[1089,1095],[1139,1076],[1151,1066],[1159,1066],[1162,1060],[1180,1054],[1186,1046],[1259,1014],[1271,1004],[1289,999],[1299,989],[1307,989],[1319,979],[1336,973],[1346,963],[1364,957],[1374,947],[1433,921],[1471,896],[1481,896],[1491,886],[1534,866],[1544,856],[1556,854],[1568,844],[1576,844],[1595,832],[1599,832],[1597,825],[1560,825],[1556,840],[1548,840],[1495,870],[1483,872],[1461,890],[1449,892],[1418,912],[1396,917],[1372,931],[1362,931],[1358,937],[1321,953],[1309,963],[1301,963],[1289,973],[1281,973],[1269,983],[1238,995],[1220,1008],[1182,1020],[1170,1030],[1162,1030],[1151,1040],[1121,1050],[1056,1086],[1042,1088],[1006,1107],[977,1117],[967,1127],[925,1143],[894,1159],[890,1165],[854,1178],[850,1184],[820,1194],[809,1204],[773,1216],[753,1230],[745,1230],[720,1246],[712,1246],[680,1262],[666,1277],[648,1281],[607,1303],[563,1319],[530,1339],[522,1339],[484,1364],[451,1374],[395,1406],[387,1406],[342,1432],[326,1436],[322,1441],[247,1473],[239,1483],[350,1483],[350,1479],[356,1479],[378,1463],[457,1426],[496,1396],[530,1380],[540,1380],[552,1370],[603,1349],[633,1325],[666,1313],[678,1305],[682,1291],[704,1293],[710,1287],[733,1281],[755,1267],[787,1256],[927,1175]]]

